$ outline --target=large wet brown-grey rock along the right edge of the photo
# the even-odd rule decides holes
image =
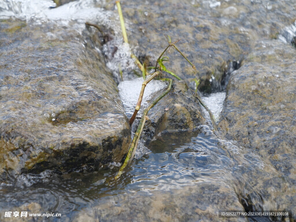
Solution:
[[[255,209],[292,210],[294,220],[295,64],[295,49],[291,45],[276,40],[258,41],[230,78],[219,124],[226,138],[252,149],[274,168],[265,169],[260,176],[250,173],[254,180],[260,178],[260,182],[252,182],[262,201]],[[256,201],[249,196],[249,202]]]

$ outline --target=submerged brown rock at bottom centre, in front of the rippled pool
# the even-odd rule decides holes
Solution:
[[[128,218],[163,222],[221,221],[218,218],[221,207],[243,210],[232,188],[223,182],[203,182],[171,191],[156,190],[150,195],[119,194],[116,200],[106,197],[100,205],[81,211],[74,221],[85,221],[89,216],[92,221],[126,221]],[[227,218],[227,221],[246,221],[246,218]]]

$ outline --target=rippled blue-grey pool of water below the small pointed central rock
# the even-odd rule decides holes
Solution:
[[[207,129],[205,126],[202,131]],[[149,152],[133,160],[116,182],[106,182],[106,178],[115,176],[119,169],[113,165],[106,166],[99,173],[83,173],[81,169],[63,176],[52,172],[38,177],[29,174],[23,178],[27,182],[21,187],[1,187],[0,207],[5,210],[29,209],[33,213],[42,209],[42,212],[61,213],[62,218],[74,218],[84,207],[104,205],[110,197],[120,204],[121,194],[140,193],[149,197],[158,190],[174,192],[204,182],[222,181],[231,186],[238,179],[232,174],[244,167],[231,157],[237,154],[223,147],[223,141],[221,143],[216,136],[205,136],[204,133],[182,136],[182,141],[176,140],[174,134],[152,141]],[[111,214],[112,211],[110,209]]]

